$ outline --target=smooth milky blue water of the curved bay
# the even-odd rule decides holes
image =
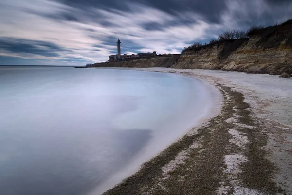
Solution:
[[[0,67],[0,195],[100,194],[205,117],[174,74]]]

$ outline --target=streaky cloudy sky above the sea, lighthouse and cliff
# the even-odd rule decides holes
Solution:
[[[223,31],[292,17],[291,0],[0,0],[0,65],[85,65],[181,53]]]

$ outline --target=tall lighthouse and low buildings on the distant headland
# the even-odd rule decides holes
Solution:
[[[118,54],[110,55],[109,61],[118,61],[118,60],[157,56],[156,51],[154,51],[152,53],[148,52],[148,53],[139,53],[139,54],[132,54],[132,55],[127,55],[127,54],[121,55],[121,41],[120,41],[120,39],[118,39],[117,44],[118,44]],[[158,54],[158,55],[162,55],[162,54]],[[163,55],[167,55],[167,54],[163,54]],[[168,54],[168,55],[171,55],[171,54]]]

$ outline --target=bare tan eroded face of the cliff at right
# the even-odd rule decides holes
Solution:
[[[221,42],[199,51],[183,52],[171,67],[277,75],[292,73],[292,48],[287,44],[288,38],[268,48],[259,44],[260,39],[260,36],[253,36],[249,40]]]

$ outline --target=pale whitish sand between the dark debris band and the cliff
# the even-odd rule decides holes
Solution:
[[[242,93],[245,102],[250,104],[256,117],[262,119],[267,130],[263,133],[269,136],[269,143],[264,148],[270,152],[269,160],[278,168],[274,180],[292,194],[292,78],[216,70],[170,68],[135,68],[135,70],[172,72],[202,78],[210,84],[219,83]],[[230,122],[236,123],[236,118],[230,118]],[[234,140],[231,141],[238,142],[237,139],[240,139],[239,145],[246,141],[244,135],[238,135],[234,130],[231,130],[230,134],[234,134]],[[228,156],[226,157],[228,160]],[[246,193],[243,189],[237,190],[237,194]],[[257,192],[250,193],[257,194]]]

